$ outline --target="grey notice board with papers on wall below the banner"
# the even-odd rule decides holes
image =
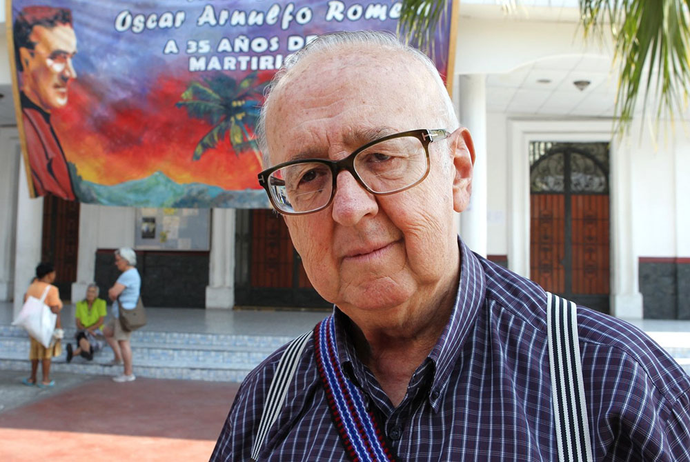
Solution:
[[[209,250],[208,208],[138,208],[137,250]]]

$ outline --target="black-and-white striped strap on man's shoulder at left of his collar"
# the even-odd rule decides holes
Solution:
[[[309,332],[304,332],[304,334],[288,344],[283,355],[280,357],[278,367],[273,375],[273,380],[268,387],[264,412],[262,412],[261,421],[259,421],[259,430],[257,431],[254,444],[252,445],[251,460],[253,461],[259,459],[259,453],[264,445],[268,430],[270,430],[280,414],[283,403],[285,402],[285,396],[288,394],[288,386],[292,382],[293,376],[295,376],[295,372],[297,371],[297,363],[299,363],[299,358],[302,357],[304,347],[306,347],[306,343],[311,336],[311,330]]]

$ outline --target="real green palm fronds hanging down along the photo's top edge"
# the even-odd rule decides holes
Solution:
[[[430,48],[448,1],[453,0],[402,0],[399,32]],[[690,0],[579,1],[585,33],[613,35],[619,130],[629,127],[640,90],[643,113],[655,99],[657,120],[664,114],[682,117],[690,93]]]

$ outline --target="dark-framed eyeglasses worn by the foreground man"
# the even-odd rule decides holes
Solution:
[[[347,170],[376,196],[408,190],[428,175],[428,145],[449,136],[439,130],[410,130],[366,143],[339,161],[299,159],[259,173],[273,207],[282,214],[302,215],[322,210],[333,201],[336,179]]]

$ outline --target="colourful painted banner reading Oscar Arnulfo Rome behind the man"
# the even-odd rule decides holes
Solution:
[[[268,207],[254,140],[266,83],[318,34],[395,32],[401,9],[395,0],[7,5],[32,196],[149,208]],[[433,52],[443,76],[450,22]]]

